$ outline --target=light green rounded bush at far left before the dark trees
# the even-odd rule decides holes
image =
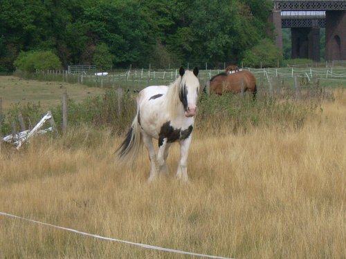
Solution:
[[[60,69],[59,57],[51,50],[21,52],[14,62],[20,70],[34,72],[36,69]]]

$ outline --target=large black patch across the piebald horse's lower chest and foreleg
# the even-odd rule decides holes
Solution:
[[[163,140],[167,138],[168,143],[176,142],[176,140],[185,140],[192,133],[193,126],[190,125],[187,129],[181,131],[181,128],[173,128],[170,121],[165,122],[161,126],[160,133],[158,133],[158,146],[163,145]]]

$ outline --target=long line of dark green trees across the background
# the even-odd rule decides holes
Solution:
[[[55,53],[63,67],[102,68],[251,63],[264,61],[261,46],[268,56],[268,48],[275,50],[271,0],[0,0],[0,6],[0,71],[14,70],[21,52],[38,50]]]

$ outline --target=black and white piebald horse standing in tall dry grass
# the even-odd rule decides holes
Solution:
[[[199,94],[198,73],[198,68],[191,72],[181,67],[180,77],[170,86],[148,86],[138,94],[137,113],[127,137],[118,148],[118,156],[120,162],[134,162],[144,144],[151,162],[149,182],[158,173],[169,173],[166,162],[173,142],[179,142],[181,147],[176,178],[188,181],[188,152]],[[157,155],[153,137],[158,140]]]

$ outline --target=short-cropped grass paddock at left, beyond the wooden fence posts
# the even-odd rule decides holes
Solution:
[[[61,104],[62,93],[69,93],[69,97],[80,101],[86,96],[100,95],[104,89],[88,87],[82,84],[67,84],[56,81],[26,80],[14,76],[0,77],[0,97],[3,111],[8,111],[11,104],[40,102],[43,108],[50,108]]]

